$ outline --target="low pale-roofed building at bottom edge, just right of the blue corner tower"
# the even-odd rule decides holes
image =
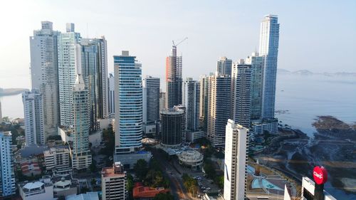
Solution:
[[[24,181],[19,184],[22,200],[54,200],[53,184],[43,181]]]

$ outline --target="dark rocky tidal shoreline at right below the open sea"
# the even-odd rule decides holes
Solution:
[[[356,198],[356,123],[349,125],[333,116],[318,116],[313,126],[317,130],[313,138],[300,130],[280,129],[280,135],[293,137],[272,142],[255,159],[295,179],[312,177],[313,167],[323,165],[331,185],[325,189],[341,190]]]

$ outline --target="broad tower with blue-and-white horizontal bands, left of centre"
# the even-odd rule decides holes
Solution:
[[[122,51],[114,56],[115,154],[137,152],[142,147],[142,70],[136,56]]]

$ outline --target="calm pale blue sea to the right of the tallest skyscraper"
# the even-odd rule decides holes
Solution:
[[[276,117],[313,137],[319,115],[356,122],[356,77],[278,74]]]

